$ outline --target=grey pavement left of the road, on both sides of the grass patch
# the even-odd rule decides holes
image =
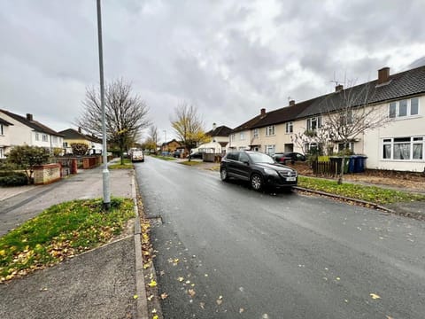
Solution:
[[[112,196],[135,198],[133,171],[110,173]],[[81,170],[58,183],[29,187],[16,194],[1,189],[0,194],[4,198],[0,199],[2,236],[52,205],[102,198],[102,169]],[[147,318],[138,243],[140,231],[130,229],[111,244],[0,284],[0,318]]]

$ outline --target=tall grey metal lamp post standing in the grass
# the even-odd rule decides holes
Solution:
[[[104,158],[104,169],[102,177],[104,182],[104,209],[111,208],[111,181],[108,170],[108,154],[106,145],[106,124],[104,110],[104,50],[102,45],[102,11],[100,0],[97,0],[97,38],[99,40],[99,73],[100,73],[100,105],[102,107],[102,154]]]

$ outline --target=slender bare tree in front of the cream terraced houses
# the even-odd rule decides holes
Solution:
[[[344,149],[360,134],[383,127],[390,119],[379,105],[373,104],[375,87],[370,83],[340,89],[321,102],[322,114],[329,137],[342,143]],[[343,152],[343,167],[345,152]],[[344,169],[339,172],[338,183],[343,183]]]

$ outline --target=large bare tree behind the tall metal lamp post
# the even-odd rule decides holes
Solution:
[[[109,144],[120,149],[123,164],[123,152],[139,139],[142,129],[150,124],[149,108],[141,97],[132,93],[131,84],[122,79],[107,84],[104,92],[106,138]],[[102,136],[102,108],[98,89],[86,89],[82,105],[84,110],[76,124],[89,134]]]

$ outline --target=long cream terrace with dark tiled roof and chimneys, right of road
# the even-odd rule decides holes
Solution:
[[[328,152],[350,148],[367,156],[367,168],[424,171],[425,169],[425,66],[398,74],[378,71],[376,80],[351,88],[337,85],[335,92],[266,112],[234,128],[228,151],[305,152],[314,144],[294,143],[296,136],[327,130],[339,116],[341,127],[352,127],[349,138],[329,136]],[[365,126],[355,133],[355,128]],[[376,121],[378,120],[379,121]],[[316,133],[317,134],[317,133]]]

